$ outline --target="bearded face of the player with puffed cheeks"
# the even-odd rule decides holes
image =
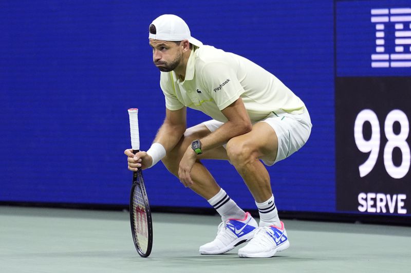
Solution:
[[[182,47],[173,41],[150,39],[153,48],[154,65],[162,72],[170,72],[176,69],[182,59]]]

